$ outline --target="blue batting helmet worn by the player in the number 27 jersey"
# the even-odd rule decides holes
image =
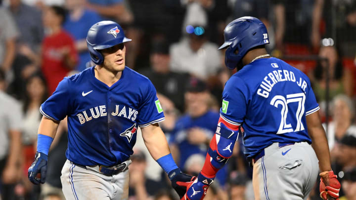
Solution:
[[[266,26],[256,17],[240,17],[230,22],[224,29],[224,38],[219,49],[227,48],[225,65],[229,69],[234,69],[251,48],[269,43]]]

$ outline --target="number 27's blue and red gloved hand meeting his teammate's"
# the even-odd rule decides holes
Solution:
[[[178,183],[178,185],[186,187],[186,193],[180,200],[203,200],[213,181],[214,178],[207,178],[199,173],[198,177],[194,177],[190,182]]]

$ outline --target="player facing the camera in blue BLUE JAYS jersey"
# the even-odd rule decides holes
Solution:
[[[37,153],[28,170],[32,183],[45,182],[48,150],[58,122],[67,116],[67,161],[61,172],[67,200],[128,199],[127,169],[138,127],[152,157],[184,195],[185,188],[176,182],[191,177],[180,172],[158,126],[165,118],[153,84],[125,66],[128,41],[115,22],[101,21],[90,28],[87,44],[95,66],[64,78],[41,105]]]

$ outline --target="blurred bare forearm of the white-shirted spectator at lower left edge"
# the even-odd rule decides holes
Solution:
[[[7,166],[15,167],[20,161],[19,155],[21,155],[22,141],[21,132],[16,130],[10,130],[10,148],[9,156],[6,162]]]

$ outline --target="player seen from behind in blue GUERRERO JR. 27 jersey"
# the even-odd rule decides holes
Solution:
[[[320,197],[338,199],[325,132],[308,77],[267,54],[265,25],[241,17],[224,30],[225,64],[237,67],[225,84],[216,133],[202,171],[182,199],[202,200],[216,172],[231,157],[241,128],[253,165],[256,200],[306,200],[321,171]],[[318,166],[319,160],[319,166]]]

